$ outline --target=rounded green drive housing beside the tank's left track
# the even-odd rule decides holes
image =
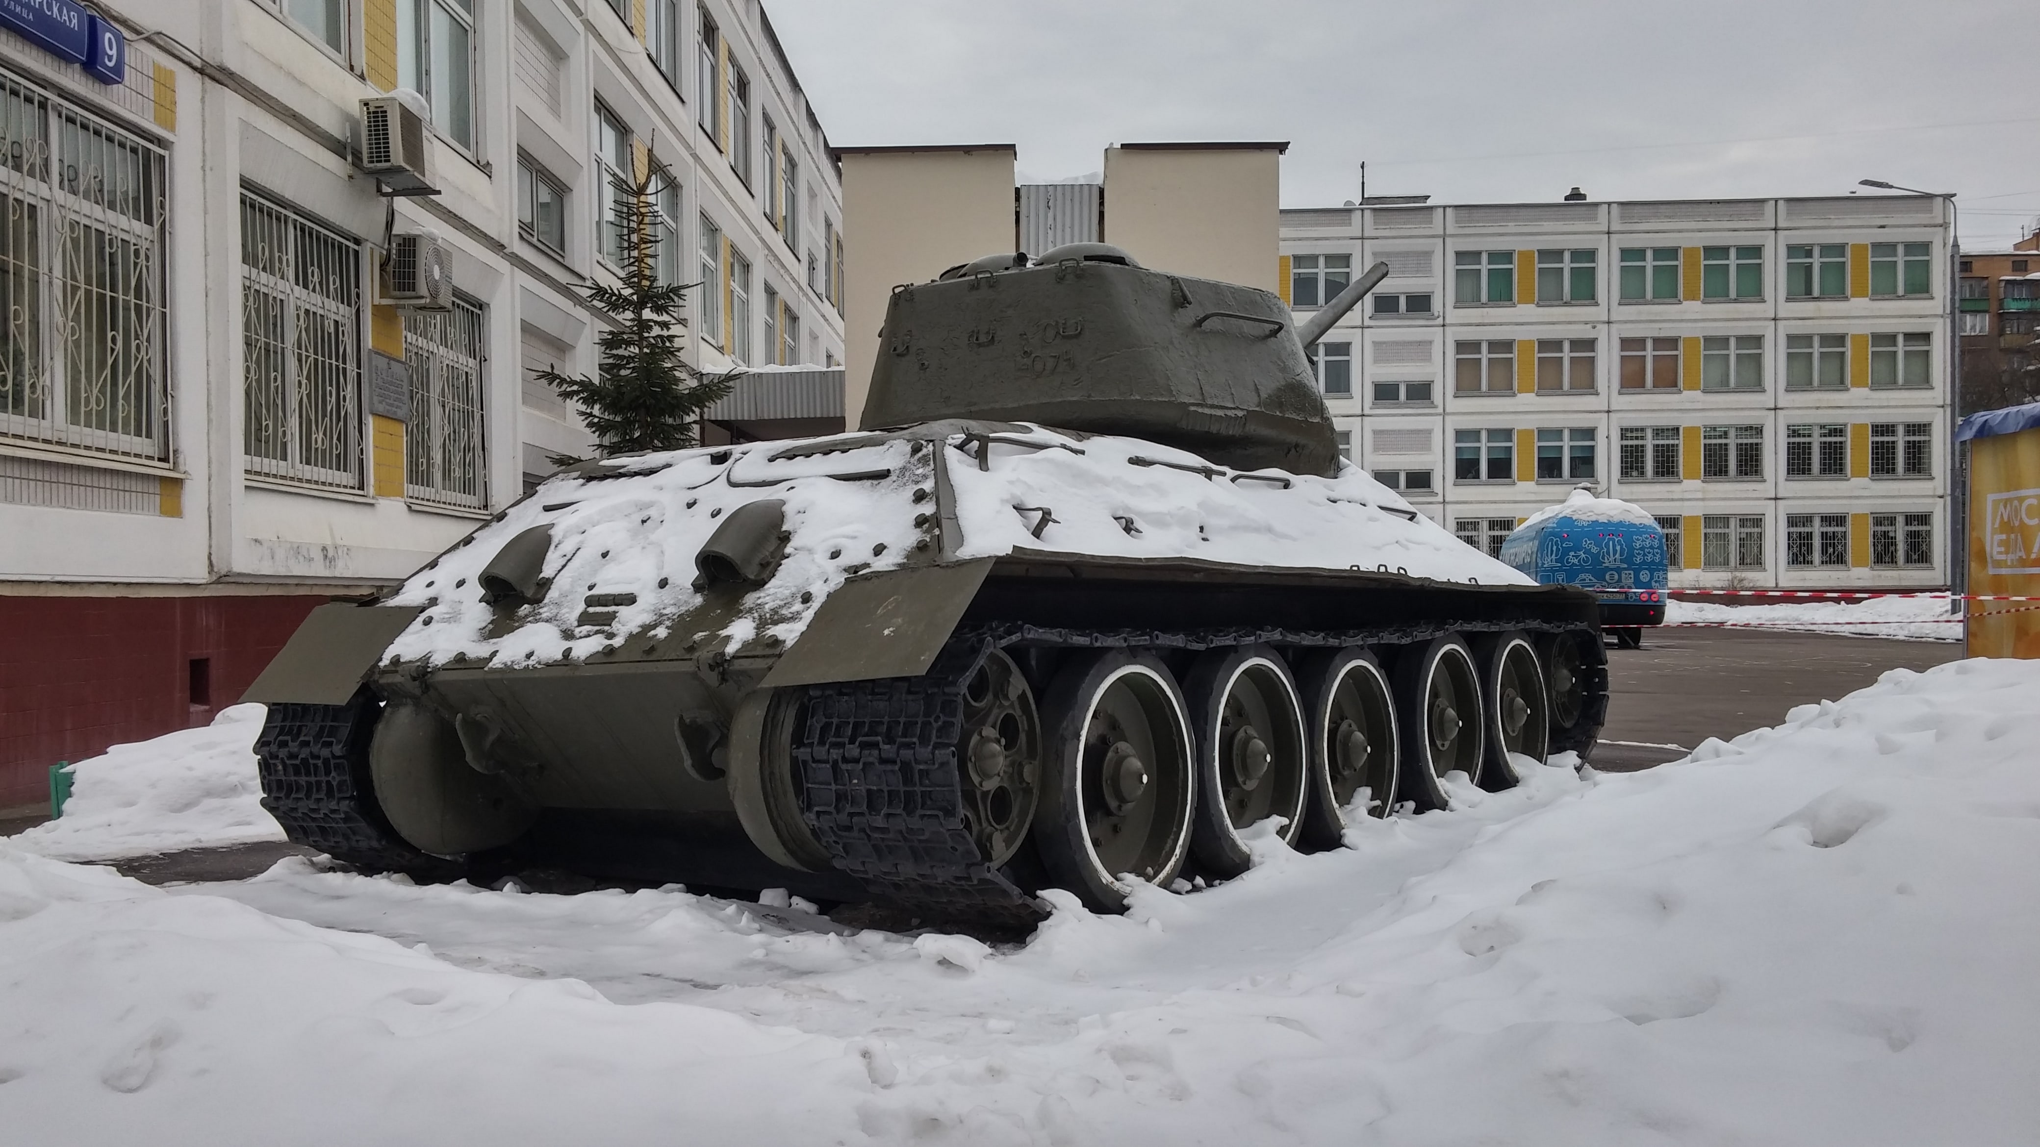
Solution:
[[[500,849],[539,818],[510,776],[473,767],[453,720],[418,702],[384,706],[369,774],[390,827],[435,857]]]

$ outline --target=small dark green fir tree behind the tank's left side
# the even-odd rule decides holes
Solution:
[[[685,296],[694,288],[712,288],[659,282],[659,243],[665,235],[651,204],[671,180],[671,171],[653,161],[634,186],[618,184],[614,190],[612,241],[622,280],[585,288],[588,302],[616,320],[596,335],[602,349],[596,378],[557,369],[539,373],[539,382],[581,412],[581,422],[596,435],[598,457],[692,447],[702,410],[728,394],[741,373],[708,376],[681,357]],[[585,459],[553,455],[551,461],[573,465]]]

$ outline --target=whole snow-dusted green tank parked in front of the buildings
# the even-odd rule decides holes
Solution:
[[[1585,755],[1595,598],[1338,457],[1308,322],[1104,245],[896,288],[853,433],[561,471],[249,690],[371,871],[1120,910]],[[1057,892],[1061,890],[1061,892]]]

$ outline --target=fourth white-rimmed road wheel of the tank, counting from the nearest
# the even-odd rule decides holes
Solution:
[[[1457,635],[1412,645],[1395,659],[1401,786],[1418,808],[1444,808],[1444,774],[1481,776],[1487,722],[1473,651]]]

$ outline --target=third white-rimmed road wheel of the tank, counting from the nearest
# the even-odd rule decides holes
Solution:
[[[1365,649],[1318,653],[1297,667],[1310,737],[1310,804],[1302,841],[1340,845],[1350,818],[1395,806],[1395,700],[1381,661]],[[1361,792],[1365,806],[1355,806]]]

